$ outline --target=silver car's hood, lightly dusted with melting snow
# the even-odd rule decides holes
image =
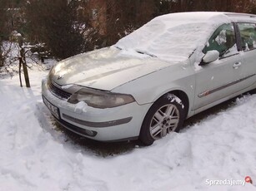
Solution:
[[[60,61],[49,77],[60,86],[76,84],[111,91],[172,64],[146,54],[108,47]]]

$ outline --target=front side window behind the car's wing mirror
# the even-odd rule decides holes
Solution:
[[[230,56],[234,51],[237,51],[233,24],[223,24],[213,32],[208,44],[203,48],[203,53],[213,50],[218,51],[219,56]]]

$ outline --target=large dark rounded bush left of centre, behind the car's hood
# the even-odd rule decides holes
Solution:
[[[53,55],[62,59],[83,51],[85,41],[76,22],[75,2],[31,0],[25,9],[30,41],[46,42]]]

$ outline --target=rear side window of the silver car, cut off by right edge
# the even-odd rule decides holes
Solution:
[[[238,23],[243,51],[256,48],[256,25],[254,23]]]

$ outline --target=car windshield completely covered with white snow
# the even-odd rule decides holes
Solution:
[[[213,27],[208,22],[157,17],[123,37],[115,46],[167,61],[181,60],[188,58],[198,46],[204,46],[212,31]]]

